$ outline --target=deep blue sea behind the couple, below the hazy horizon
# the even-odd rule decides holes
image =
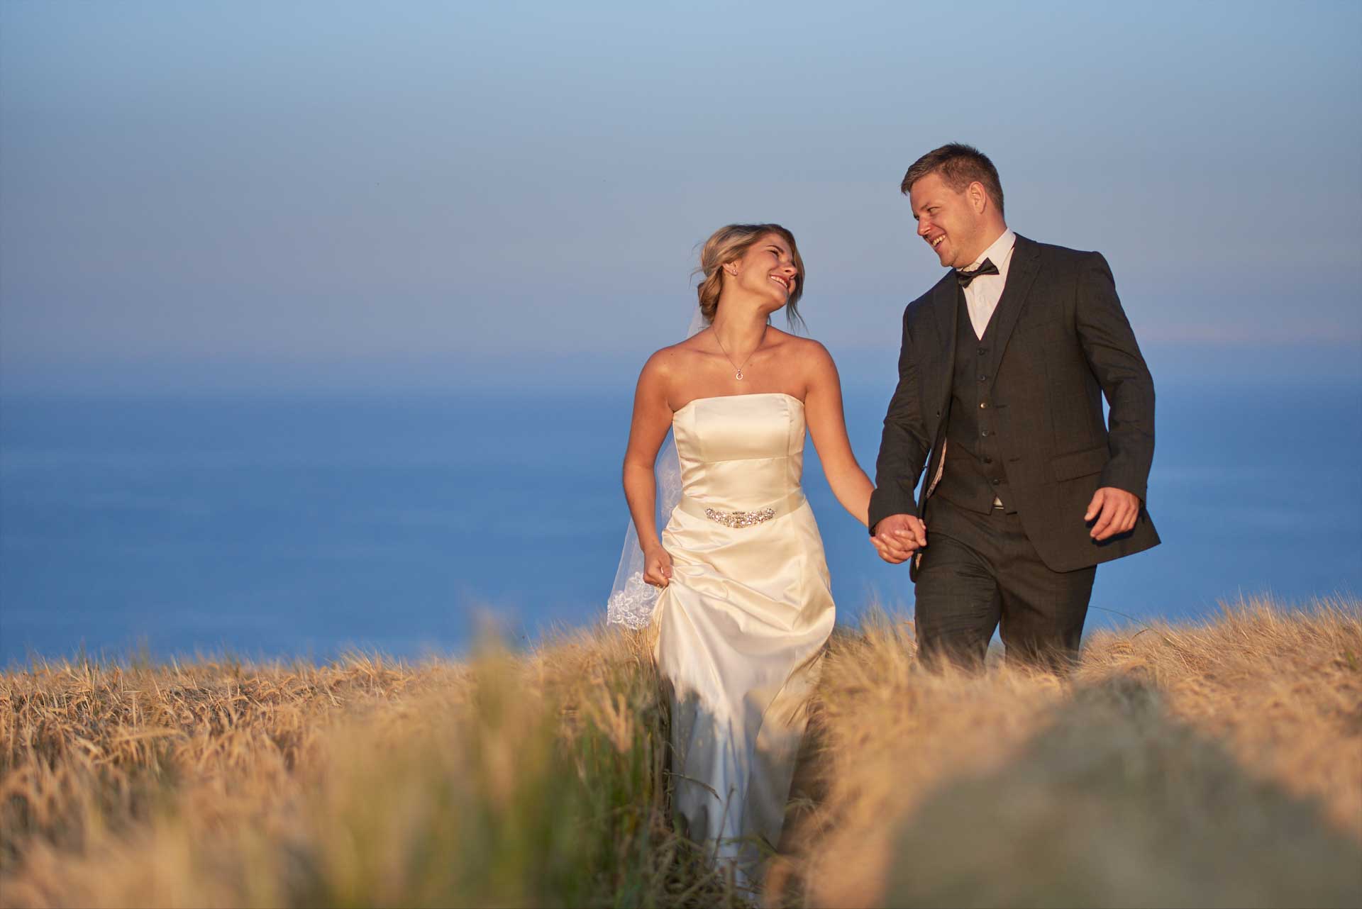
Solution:
[[[873,475],[891,389],[844,386]],[[0,397],[0,664],[331,660],[533,646],[601,621],[628,514],[616,388]],[[1184,373],[1159,384],[1163,544],[1098,570],[1088,627],[1362,591],[1362,393]],[[839,621],[913,612],[832,497],[805,489]]]

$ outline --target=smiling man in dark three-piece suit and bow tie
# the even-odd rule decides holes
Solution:
[[[1008,230],[987,156],[943,146],[902,189],[952,271],[903,312],[872,542],[913,559],[926,665],[982,664],[1001,623],[1009,661],[1065,671],[1096,565],[1159,543],[1154,380],[1106,260]]]

